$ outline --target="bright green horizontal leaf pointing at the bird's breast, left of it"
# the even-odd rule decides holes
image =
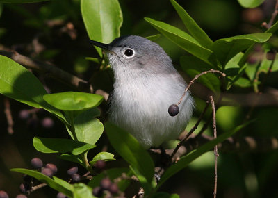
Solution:
[[[98,106],[104,97],[83,92],[60,92],[44,95],[43,99],[60,110],[83,110]]]

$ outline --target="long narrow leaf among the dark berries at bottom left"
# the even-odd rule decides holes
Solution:
[[[42,183],[47,183],[47,185],[49,185],[50,188],[53,188],[54,190],[57,190],[58,192],[62,192],[63,194],[65,194],[69,197],[72,197],[72,191],[74,190],[72,185],[70,185],[66,181],[63,181],[62,179],[58,179],[58,177],[54,176],[54,179],[51,179],[49,176],[41,174],[38,171],[28,170],[28,169],[24,169],[24,168],[13,168],[13,169],[11,169],[11,171],[21,172],[23,174],[28,174],[30,176],[33,176],[33,177],[35,177],[35,179],[42,181]]]

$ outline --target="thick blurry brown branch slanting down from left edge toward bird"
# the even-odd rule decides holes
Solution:
[[[15,62],[20,65],[24,65],[27,68],[37,70],[44,74],[49,74],[49,76],[66,83],[67,85],[71,85],[72,88],[76,88],[77,90],[82,90],[84,92],[92,92],[92,85],[90,85],[87,81],[83,79],[79,79],[79,77],[74,76],[70,73],[63,71],[62,69],[55,67],[54,65],[50,65],[48,63],[43,63],[38,60],[33,60],[32,58],[28,58],[26,56],[22,56],[16,51],[3,51],[0,50],[0,54],[3,56],[7,56],[15,60]]]

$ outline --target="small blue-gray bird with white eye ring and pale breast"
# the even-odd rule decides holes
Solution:
[[[179,101],[186,82],[165,51],[136,35],[110,44],[91,42],[104,49],[115,76],[108,99],[110,122],[129,131],[146,149],[177,138],[193,113],[193,98],[187,93],[177,116],[169,115],[169,106]]]

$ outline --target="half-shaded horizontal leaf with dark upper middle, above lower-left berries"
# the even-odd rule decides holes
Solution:
[[[33,138],[33,145],[37,151],[42,153],[67,153],[74,155],[82,154],[95,147],[85,142],[67,140],[61,138]]]

